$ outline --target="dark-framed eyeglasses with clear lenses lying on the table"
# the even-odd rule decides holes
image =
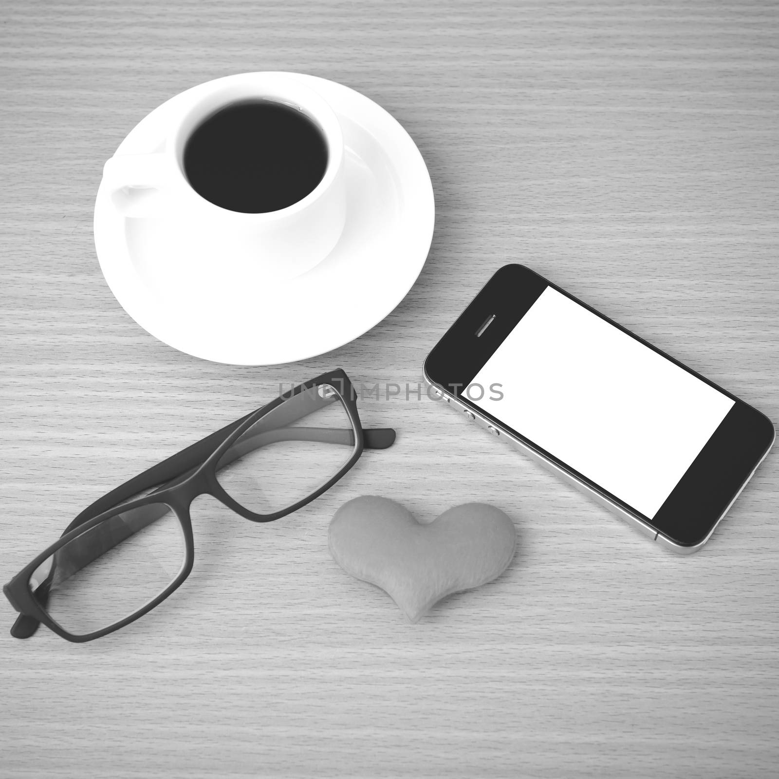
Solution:
[[[80,642],[128,625],[189,576],[189,507],[198,495],[213,495],[247,520],[270,522],[332,487],[364,448],[394,441],[391,428],[363,430],[344,371],[295,387],[76,516],[3,587],[20,612],[12,636],[28,638],[43,623]]]

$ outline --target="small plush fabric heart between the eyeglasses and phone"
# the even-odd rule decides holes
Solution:
[[[418,622],[442,597],[503,573],[514,556],[516,530],[486,503],[464,503],[421,524],[400,503],[365,495],[338,509],[328,544],[341,568],[381,587]]]

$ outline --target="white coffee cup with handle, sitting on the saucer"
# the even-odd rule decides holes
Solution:
[[[344,137],[332,108],[286,73],[242,73],[216,79],[171,106],[156,153],[117,154],[103,169],[103,186],[122,216],[164,220],[173,249],[160,252],[150,277],[174,282],[196,275],[196,286],[253,279],[288,279],[321,262],[346,219]],[[228,105],[271,100],[302,111],[327,148],[322,180],[303,199],[269,213],[241,213],[210,203],[189,184],[184,150],[192,132]],[[175,237],[181,238],[180,242]],[[175,247],[178,247],[176,249]],[[247,276],[249,274],[249,276]]]

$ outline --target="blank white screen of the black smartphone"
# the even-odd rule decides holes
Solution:
[[[467,397],[650,519],[733,406],[552,287]]]

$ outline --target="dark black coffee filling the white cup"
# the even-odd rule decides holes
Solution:
[[[241,213],[266,213],[305,198],[322,181],[327,146],[301,111],[280,103],[236,103],[199,125],[184,171],[199,195]]]

